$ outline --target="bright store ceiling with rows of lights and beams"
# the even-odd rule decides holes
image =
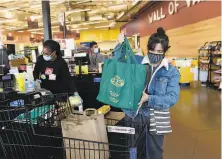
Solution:
[[[147,3],[147,1],[145,1]],[[145,2],[139,0],[51,0],[53,32],[59,31],[59,13],[66,13],[66,25],[71,30],[113,28],[126,14],[135,13]],[[0,30],[42,32],[41,0],[0,0]],[[27,18],[38,19],[40,29],[30,30]],[[130,20],[124,18],[124,21]]]

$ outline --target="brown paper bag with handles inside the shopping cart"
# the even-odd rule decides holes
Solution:
[[[87,109],[84,115],[70,115],[67,119],[62,120],[66,159],[109,158],[104,115],[97,114],[97,111],[93,109],[95,113],[87,116],[86,112],[89,110],[92,109]]]

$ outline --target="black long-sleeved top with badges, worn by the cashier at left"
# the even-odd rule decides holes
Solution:
[[[39,56],[34,71],[34,79],[42,81],[41,87],[56,93],[74,93],[76,85],[72,79],[66,61],[58,56],[55,61],[45,61]]]

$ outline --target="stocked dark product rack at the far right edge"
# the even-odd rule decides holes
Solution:
[[[199,50],[199,70],[208,71],[206,84],[210,88],[221,89],[221,57],[221,41],[205,43]]]

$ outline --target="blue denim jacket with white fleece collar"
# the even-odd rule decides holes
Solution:
[[[145,56],[141,63],[150,65],[148,56]],[[123,111],[127,116],[134,118],[138,113],[149,116],[149,108],[169,109],[179,99],[179,78],[179,71],[164,58],[159,67],[152,73],[146,92],[149,94],[148,102],[138,110],[124,109]]]

